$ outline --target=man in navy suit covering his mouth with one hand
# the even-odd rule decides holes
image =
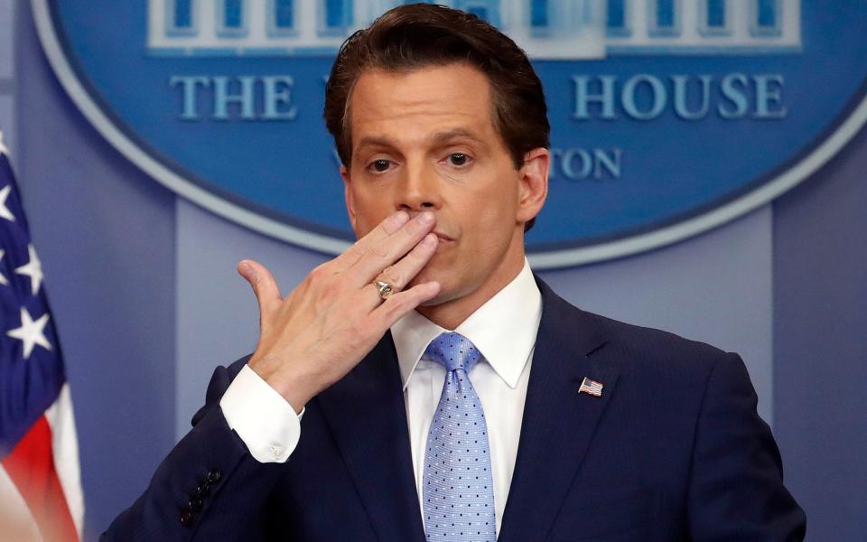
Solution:
[[[804,536],[737,356],[532,276],[550,157],[523,51],[401,6],[344,44],[325,101],[359,241],[286,297],[239,264],[256,351],[105,539]]]

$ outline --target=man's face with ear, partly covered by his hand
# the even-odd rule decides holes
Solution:
[[[440,282],[429,304],[495,292],[517,275],[524,222],[545,199],[546,151],[516,170],[490,99],[487,77],[463,63],[367,70],[350,97],[351,168],[341,174],[352,227],[360,238],[396,210],[433,212],[439,245],[413,283]]]

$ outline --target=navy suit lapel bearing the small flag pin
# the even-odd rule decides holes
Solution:
[[[583,461],[618,370],[596,364],[599,325],[539,281],[542,320],[499,540],[545,539]],[[603,384],[601,397],[578,392],[584,377]]]

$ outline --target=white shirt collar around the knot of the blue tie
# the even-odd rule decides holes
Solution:
[[[527,258],[524,268],[502,290],[454,330],[469,339],[510,388],[524,371],[542,316],[542,294]],[[427,345],[449,330],[412,311],[391,326],[404,389]]]

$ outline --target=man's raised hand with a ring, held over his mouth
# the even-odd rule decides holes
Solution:
[[[433,213],[383,220],[330,262],[312,270],[284,299],[265,266],[238,264],[259,304],[259,342],[248,365],[296,412],[362,360],[387,329],[440,292],[436,282],[403,288],[433,257]],[[395,290],[380,299],[374,281]]]

